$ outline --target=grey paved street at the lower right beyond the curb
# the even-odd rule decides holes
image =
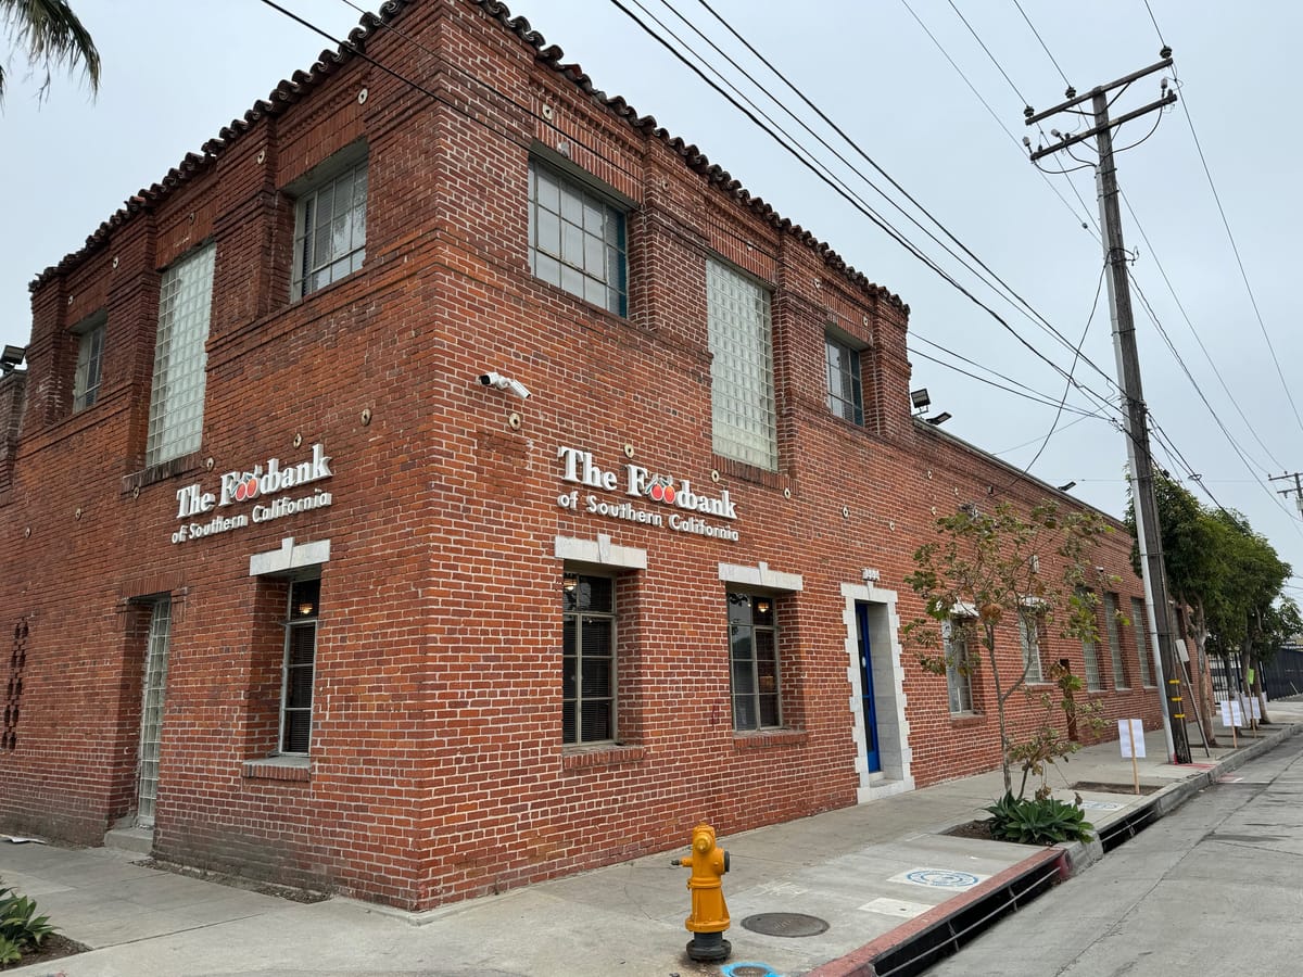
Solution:
[[[1295,737],[1221,778],[928,977],[1303,973],[1300,870],[1303,740]]]

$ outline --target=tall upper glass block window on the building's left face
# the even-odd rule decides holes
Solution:
[[[210,244],[163,272],[146,465],[188,455],[199,447],[207,360],[203,344],[208,339],[212,310],[215,253],[216,246]]]

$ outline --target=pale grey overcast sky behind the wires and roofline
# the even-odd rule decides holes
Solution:
[[[637,12],[635,0],[622,3]],[[661,0],[641,3],[757,98]],[[1054,61],[1085,92],[1157,61],[1160,36],[1143,0],[1019,3],[958,0],[972,31],[949,0],[908,0],[908,7],[906,0],[711,0],[711,7],[1025,300],[1035,317],[981,284],[834,160],[855,194],[1061,367],[1072,366],[1071,349],[1033,318],[1044,317],[1070,344],[1084,333],[1081,352],[1089,362],[1076,363],[1076,379],[1117,403],[1106,294],[1089,318],[1102,268],[1093,171],[1038,175],[1019,142],[1023,107],[1029,102],[1044,109],[1063,99],[1066,85]],[[281,4],[335,36],[343,36],[360,16],[345,0]],[[701,0],[672,4],[784,104],[816,124],[796,95],[727,38]],[[1135,253],[1135,280],[1194,378],[1187,378],[1138,296],[1144,392],[1164,435],[1157,460],[1205,504],[1212,504],[1210,492],[1217,503],[1246,513],[1303,573],[1298,511],[1293,500],[1276,494],[1283,482],[1267,481],[1303,469],[1298,408],[1303,389],[1293,389],[1303,345],[1295,285],[1303,188],[1294,152],[1299,137],[1281,112],[1293,90],[1289,65],[1303,36],[1303,5],[1285,0],[1151,4],[1162,39],[1174,51],[1182,103],[1161,120],[1145,116],[1117,135],[1118,147],[1140,143],[1118,158],[1130,203],[1130,210],[1123,207],[1123,227],[1127,248]],[[78,82],[56,77],[38,108],[35,83],[23,79],[21,64],[12,64],[0,115],[0,176],[9,188],[8,233],[0,236],[3,343],[26,344],[27,283],[42,268],[81,248],[122,201],[160,180],[188,151],[197,151],[242,116],[279,79],[308,68],[327,46],[259,0],[74,0],[73,7],[103,57],[99,99],[91,103]],[[791,133],[779,145],[610,0],[515,0],[509,8],[563,48],[568,61],[582,65],[597,87],[623,95],[640,113],[696,143],[753,194],[908,302],[912,386],[930,391],[933,412],[952,414],[947,431],[1018,466],[1031,464],[1044,444],[1032,474],[1052,485],[1076,482],[1074,495],[1106,512],[1123,512],[1123,436],[1109,421],[1079,413],[1098,409],[1100,401],[1074,389],[1067,397],[1071,413],[1063,413],[1046,442],[1055,419],[1053,405],[925,358],[1015,386],[989,373],[995,370],[1055,403],[1065,392],[1063,378],[990,314],[801,167],[783,145],[799,141],[814,147],[821,159],[833,156],[790,119],[764,106]],[[650,18],[644,20],[654,27]],[[1114,113],[1157,98],[1160,77],[1132,86]],[[1252,298],[1200,163],[1187,109]],[[1145,138],[1156,121],[1157,129]],[[1045,122],[1046,132],[1052,126],[1070,130],[1084,124],[1062,117]],[[826,126],[817,125],[817,130],[890,191],[856,150],[835,143]],[[1033,134],[1033,141],[1038,138]],[[1084,163],[1091,160],[1084,150],[1078,155]],[[1066,156],[1042,164],[1081,165]],[[915,216],[943,237],[916,211]],[[1191,475],[1199,475],[1208,491]]]

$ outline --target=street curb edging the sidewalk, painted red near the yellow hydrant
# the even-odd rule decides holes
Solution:
[[[1197,775],[1186,778],[1178,783],[1169,784],[1161,791],[1149,795],[1128,814],[1128,819],[1152,822],[1166,817],[1200,791],[1204,791],[1217,783],[1217,779],[1225,776],[1229,771],[1243,766],[1248,761],[1263,756],[1268,750],[1280,746],[1290,737],[1300,733],[1303,733],[1303,724],[1290,724],[1272,732],[1248,746],[1242,746],[1235,753],[1218,759],[1212,769],[1204,770]],[[1088,869],[1091,865],[1102,858],[1104,855],[1104,845],[1100,842],[1098,830],[1096,831],[1095,840],[1089,843],[1074,842],[1071,844],[1059,844],[1053,848],[1046,848],[1042,852],[1037,852],[1036,855],[1024,858],[998,875],[993,875],[981,885],[975,886],[971,891],[942,903],[941,905],[902,926],[896,926],[890,933],[885,933],[873,942],[865,943],[859,950],[853,950],[837,960],[830,960],[829,963],[809,970],[805,977],[880,977],[877,969],[878,961],[883,960],[890,954],[894,954],[907,943],[925,935],[928,931],[949,927],[950,922],[955,917],[963,914],[972,905],[980,903],[1005,886],[1009,886],[1011,882],[1032,874],[1041,866],[1054,861],[1059,862],[1058,881],[1065,882]],[[942,942],[950,941],[937,941],[933,946]],[[929,947],[924,947],[920,956],[928,951]]]

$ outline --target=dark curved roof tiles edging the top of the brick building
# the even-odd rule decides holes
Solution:
[[[367,12],[362,14],[358,26],[349,31],[347,40],[340,43],[335,51],[322,51],[311,68],[306,72],[296,70],[288,79],[283,79],[275,89],[272,89],[266,99],[255,102],[241,119],[233,119],[228,125],[222,126],[214,138],[208,139],[199,147],[199,152],[188,152],[185,158],[176,167],[169,169],[162,180],[151,186],[141,189],[134,195],[128,198],[126,202],[108,220],[100,224],[95,232],[86,238],[86,244],[79,250],[65,255],[57,264],[47,267],[35,279],[33,279],[33,281],[27,285],[27,289],[30,292],[35,292],[53,276],[66,272],[79,264],[91,251],[107,245],[109,236],[116,228],[121,227],[128,220],[132,220],[137,214],[152,210],[160,201],[171,195],[182,184],[188,182],[201,172],[207,171],[216,162],[218,156],[220,156],[241,135],[253,129],[253,126],[262,119],[285,112],[291,106],[294,106],[310,91],[324,83],[340,65],[348,64],[352,59],[358,56],[365,57],[366,42],[370,40],[370,38],[374,36],[380,29],[388,29],[392,21],[395,21],[401,12],[413,3],[417,3],[417,0],[386,0],[386,3],[380,5],[378,13]],[[734,180],[726,169],[711,163],[706,155],[697,149],[697,146],[685,142],[681,137],[671,135],[666,129],[657,125],[653,116],[640,116],[623,96],[609,96],[605,91],[597,89],[593,85],[593,79],[589,78],[589,76],[577,64],[564,64],[563,59],[566,55],[562,48],[555,44],[547,44],[543,35],[529,26],[528,20],[524,17],[512,17],[507,5],[499,3],[499,0],[466,0],[466,3],[478,7],[491,20],[498,21],[503,25],[503,27],[520,38],[520,40],[534,48],[536,60],[571,81],[580,91],[595,99],[616,117],[623,119],[633,129],[662,141],[671,151],[683,159],[689,169],[705,177],[708,182],[722,189],[735,201],[751,210],[754,215],[767,221],[775,231],[791,234],[800,244],[810,248],[823,259],[823,263],[831,271],[846,276],[852,284],[864,288],[880,300],[896,306],[906,315],[908,315],[909,306],[906,305],[899,296],[893,294],[889,289],[872,283],[864,274],[850,266],[826,242],[820,241],[800,224],[795,224],[787,218],[783,218],[764,199],[753,195],[737,180]]]

